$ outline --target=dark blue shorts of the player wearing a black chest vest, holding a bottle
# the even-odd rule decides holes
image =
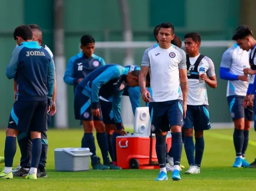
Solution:
[[[187,105],[184,129],[204,131],[211,129],[208,105]]]

